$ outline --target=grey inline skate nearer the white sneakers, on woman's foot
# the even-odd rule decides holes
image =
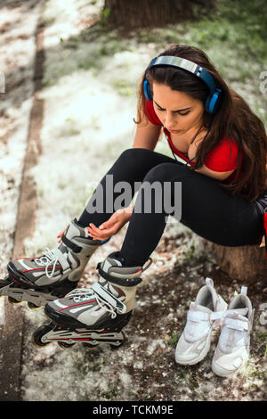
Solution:
[[[32,336],[37,346],[57,341],[61,348],[69,348],[77,341],[94,349],[108,343],[114,349],[125,340],[122,332],[134,310],[136,287],[140,275],[150,267],[126,267],[118,252],[111,253],[98,264],[100,279],[90,289],[69,292],[64,299],[49,302],[44,313],[51,318]]]

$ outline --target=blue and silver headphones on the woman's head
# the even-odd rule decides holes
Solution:
[[[213,76],[208,71],[203,69],[203,67],[196,64],[195,62],[190,62],[185,58],[162,55],[160,57],[153,58],[147,70],[149,70],[150,67],[159,65],[187,70],[198,78],[201,78],[210,90],[210,94],[206,98],[205,110],[212,114],[215,114],[218,111],[222,98],[222,89],[216,86]],[[147,78],[145,78],[143,82],[143,93],[146,99],[152,102],[153,98],[150,91],[150,83]]]

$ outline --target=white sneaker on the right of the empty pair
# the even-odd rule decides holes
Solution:
[[[236,295],[223,321],[222,332],[214,352],[212,370],[221,377],[239,373],[247,364],[254,309],[247,297],[247,287]]]

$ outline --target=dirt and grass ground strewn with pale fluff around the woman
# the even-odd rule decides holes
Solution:
[[[246,31],[238,18],[231,21],[235,11],[229,13],[222,6],[217,12],[221,21],[215,31],[216,22],[211,20],[138,32],[129,38],[93,25],[102,3],[6,1],[1,9],[0,30],[6,45],[2,66],[10,86],[0,114],[3,275],[6,261],[12,256],[16,228],[27,141],[25,121],[29,119],[33,94],[37,18],[44,28],[44,88],[37,93],[44,101],[44,118],[42,152],[31,171],[37,209],[34,234],[25,241],[27,256],[56,245],[56,235],[69,219],[80,214],[93,186],[119,153],[131,147],[142,71],[166,44],[179,42],[205,49],[231,86],[246,94],[250,106],[264,123],[267,121],[266,94],[260,94],[259,89],[259,75],[266,67],[261,59],[255,59],[264,58],[263,41],[258,34],[261,17],[254,20],[253,11],[249,10],[253,6],[248,2],[247,9],[238,3],[242,10],[236,12],[247,22]],[[211,34],[216,34],[212,43]],[[237,56],[240,60],[236,60]],[[158,152],[169,152],[164,140],[157,147]],[[217,291],[227,301],[243,283],[220,271],[207,243],[173,219],[170,221],[151,255],[153,265],[144,273],[138,288],[134,316],[125,327],[122,348],[90,351],[77,344],[63,350],[54,343],[38,349],[31,343],[31,334],[47,321],[43,309],[32,311],[25,303],[20,306],[25,316],[23,400],[266,399],[266,328],[261,322],[261,307],[267,300],[267,289],[263,282],[248,288],[255,307],[255,323],[250,360],[243,374],[222,379],[212,373],[218,331],[214,331],[212,348],[200,364],[175,364],[175,343],[185,325],[190,301],[204,285],[206,276],[214,279]],[[97,279],[96,264],[120,248],[126,228],[93,255],[80,285],[90,286]]]

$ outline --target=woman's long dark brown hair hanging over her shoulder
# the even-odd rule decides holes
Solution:
[[[263,122],[251,111],[245,100],[227,86],[203,51],[189,45],[172,45],[159,55],[173,55],[196,62],[212,74],[216,86],[223,90],[219,111],[215,115],[204,111],[202,129],[206,127],[208,131],[199,144],[193,169],[203,166],[208,152],[211,152],[223,137],[232,139],[239,147],[236,177],[231,184],[221,185],[229,189],[232,194],[238,193],[248,201],[255,201],[266,189],[267,136]],[[151,90],[155,81],[166,84],[173,90],[189,94],[203,103],[210,93],[206,84],[189,71],[173,67],[151,67],[144,72],[139,89],[137,124],[140,124],[144,118],[147,119],[142,87],[145,78],[149,79]]]

